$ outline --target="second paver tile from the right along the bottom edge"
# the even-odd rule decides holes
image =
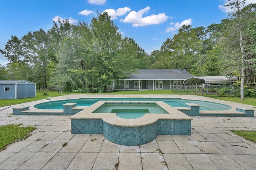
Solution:
[[[225,154],[206,154],[206,156],[221,170],[244,170],[242,166]]]

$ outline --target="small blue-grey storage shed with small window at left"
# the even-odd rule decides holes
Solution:
[[[27,80],[0,80],[0,99],[36,97],[36,83]]]

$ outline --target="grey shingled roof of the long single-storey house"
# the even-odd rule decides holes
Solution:
[[[126,80],[184,80],[192,77],[186,69],[138,69]]]

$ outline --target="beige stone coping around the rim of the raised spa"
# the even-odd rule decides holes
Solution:
[[[145,114],[137,119],[123,119],[117,117],[115,113],[92,113],[104,103],[128,103],[127,101],[98,101],[90,107],[71,116],[70,119],[102,119],[104,122],[120,127],[142,127],[156,123],[158,120],[192,120],[191,117],[182,113],[178,109],[171,107],[163,101],[130,101],[131,103],[156,103],[169,114]]]

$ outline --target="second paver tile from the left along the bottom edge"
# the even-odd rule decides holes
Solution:
[[[56,152],[37,152],[17,170],[40,170],[55,154]]]

